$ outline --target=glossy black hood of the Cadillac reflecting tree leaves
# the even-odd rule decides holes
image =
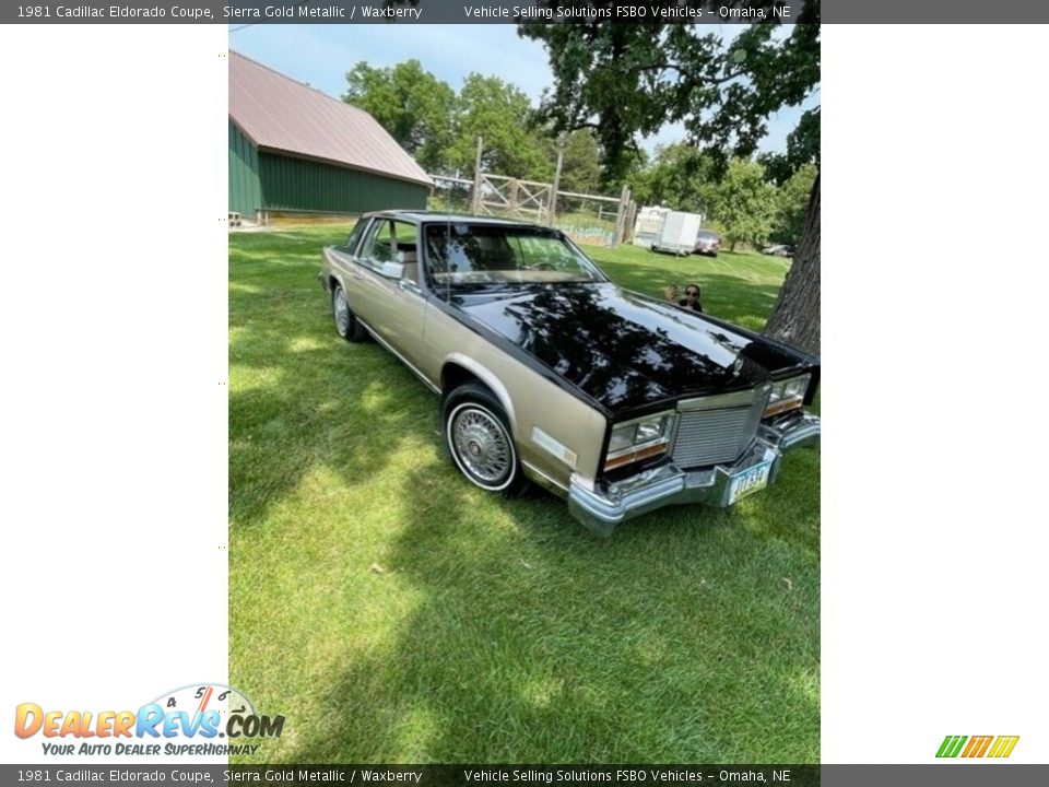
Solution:
[[[451,303],[612,413],[753,388],[798,363],[759,339],[614,284],[542,284]]]

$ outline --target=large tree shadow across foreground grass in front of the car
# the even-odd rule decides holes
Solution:
[[[326,731],[287,762],[818,757],[798,677],[818,669],[818,567],[761,515],[661,510],[601,540],[547,495],[493,514],[480,494],[405,478],[368,582],[419,602],[329,676]]]

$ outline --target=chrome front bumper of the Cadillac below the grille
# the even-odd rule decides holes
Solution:
[[[616,481],[600,492],[574,474],[568,486],[568,510],[589,529],[609,536],[620,522],[668,505],[706,503],[723,508],[729,505],[733,477],[771,462],[771,485],[786,451],[818,442],[820,419],[806,411],[793,412],[763,424],[751,447],[732,465],[696,470],[663,465]]]

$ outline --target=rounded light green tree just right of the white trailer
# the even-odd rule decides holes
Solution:
[[[723,227],[729,250],[736,244],[759,246],[768,238],[776,215],[776,188],[765,179],[765,167],[747,158],[733,158],[714,189],[711,213]]]

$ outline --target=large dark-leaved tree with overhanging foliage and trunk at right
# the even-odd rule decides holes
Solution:
[[[545,0],[546,5],[558,4]],[[615,0],[589,0],[612,8]],[[685,0],[698,9],[716,3]],[[771,3],[762,3],[766,7]],[[555,131],[591,128],[598,137],[606,177],[620,180],[637,149],[638,134],[656,133],[681,121],[691,141],[719,169],[734,155],[750,156],[767,131],[768,117],[814,95],[820,82],[820,2],[802,7],[789,35],[776,24],[752,25],[727,44],[702,25],[652,21],[638,24],[542,24],[518,26],[521,35],[546,46],[555,85],[544,95],[541,116]],[[787,152],[768,158],[770,175],[782,181],[804,163],[818,167],[820,109],[803,113],[788,138]],[[805,232],[820,235],[820,178],[813,184]],[[800,242],[791,274],[780,291],[766,330],[806,349],[820,348],[818,240]],[[815,266],[815,268],[813,267]],[[802,291],[815,282],[815,298]],[[789,303],[798,299],[808,308]],[[782,315],[779,313],[782,312]],[[786,319],[789,317],[790,319]]]

